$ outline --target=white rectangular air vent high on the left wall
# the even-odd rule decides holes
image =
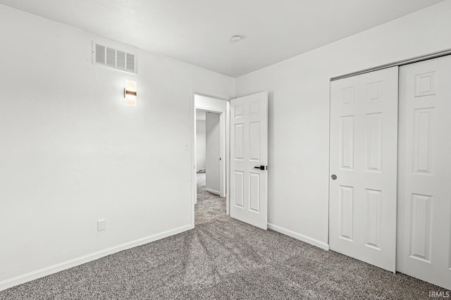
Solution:
[[[92,42],[92,63],[136,74],[136,57],[125,51]]]

